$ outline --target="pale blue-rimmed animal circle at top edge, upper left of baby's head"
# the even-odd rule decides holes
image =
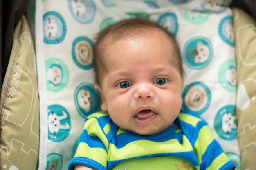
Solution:
[[[94,20],[96,6],[93,0],[68,0],[68,7],[77,22],[88,24]]]

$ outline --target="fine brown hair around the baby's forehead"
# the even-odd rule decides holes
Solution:
[[[180,46],[175,36],[155,21],[141,18],[129,18],[107,26],[103,31],[96,35],[93,47],[96,84],[101,87],[104,73],[107,71],[106,63],[104,62],[105,48],[121,39],[137,37],[141,34],[150,33],[150,31],[153,32],[156,30],[165,33],[170,41],[172,41],[176,54],[174,62],[183,78],[184,71],[182,68]]]

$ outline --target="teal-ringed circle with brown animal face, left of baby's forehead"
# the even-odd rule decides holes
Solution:
[[[93,42],[88,37],[78,37],[72,43],[72,59],[76,65],[89,70],[93,67]]]

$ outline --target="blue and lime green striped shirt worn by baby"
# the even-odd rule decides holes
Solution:
[[[155,135],[119,128],[107,112],[88,116],[74,158],[97,170],[229,170],[230,161],[198,115],[181,111],[175,124]]]

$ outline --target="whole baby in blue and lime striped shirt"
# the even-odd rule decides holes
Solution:
[[[175,37],[153,21],[125,19],[100,32],[102,111],[88,116],[68,169],[234,169],[207,123],[181,111],[181,58]]]

